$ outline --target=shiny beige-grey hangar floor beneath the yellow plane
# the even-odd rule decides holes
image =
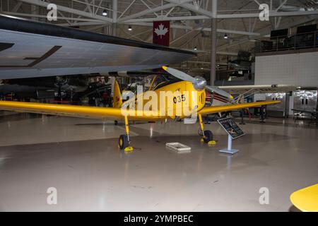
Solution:
[[[2,112],[0,210],[289,211],[293,191],[318,183],[317,127],[251,121],[230,156],[218,152],[225,131],[205,126],[217,145],[199,142],[197,124],[134,124],[136,150],[123,153],[117,138],[124,128],[112,121]],[[192,153],[168,150],[170,141]],[[47,204],[49,187],[57,205]],[[259,203],[262,187],[269,205]]]

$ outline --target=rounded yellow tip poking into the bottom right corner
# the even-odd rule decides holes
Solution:
[[[318,212],[318,184],[295,191],[290,201],[302,212]]]

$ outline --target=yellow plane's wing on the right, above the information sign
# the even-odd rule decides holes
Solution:
[[[280,101],[262,101],[262,102],[252,102],[252,103],[245,103],[245,104],[237,104],[237,105],[224,105],[224,106],[215,106],[215,107],[204,107],[199,113],[200,114],[213,114],[218,112],[228,112],[235,109],[244,109],[249,107],[259,107],[263,105],[274,105],[278,104]]]

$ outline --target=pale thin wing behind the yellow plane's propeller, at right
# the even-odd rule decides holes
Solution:
[[[296,89],[293,85],[233,85],[219,86],[221,90],[232,95],[249,95],[256,93],[289,93]]]

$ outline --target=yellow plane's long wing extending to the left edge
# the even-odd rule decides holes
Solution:
[[[129,119],[160,120],[160,116],[155,116],[159,114],[154,114],[154,112],[129,112],[127,110],[122,110],[121,108],[113,107],[86,107],[74,105],[52,105],[34,102],[0,101],[0,109],[14,112],[31,112],[38,114],[54,114],[71,117],[90,117],[104,119],[124,119],[124,114],[129,113]]]

